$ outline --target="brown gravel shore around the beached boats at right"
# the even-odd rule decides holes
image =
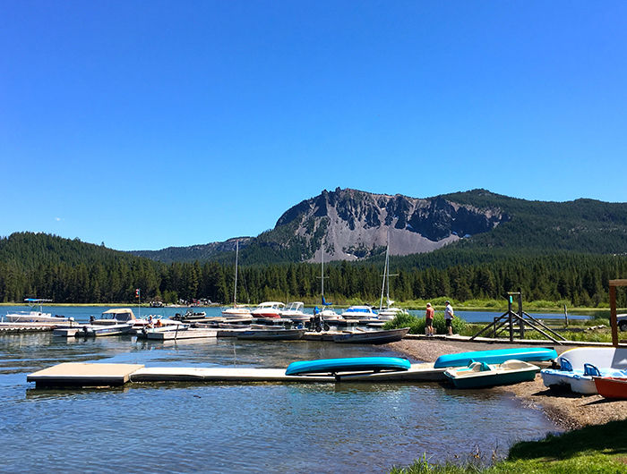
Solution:
[[[401,352],[409,357],[425,362],[434,362],[442,354],[467,351],[486,351],[520,347],[520,344],[508,343],[467,343],[444,339],[403,339],[390,343],[392,351]],[[554,346],[557,353],[562,353],[576,346]],[[566,429],[575,429],[586,425],[601,425],[614,419],[627,419],[627,401],[608,401],[601,395],[581,395],[554,393],[542,383],[542,377],[536,376],[533,382],[494,387],[504,393],[519,397],[528,406],[539,407],[555,424]]]

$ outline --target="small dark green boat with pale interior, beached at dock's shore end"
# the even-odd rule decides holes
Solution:
[[[467,368],[447,368],[444,375],[456,388],[483,388],[528,382],[536,378],[539,371],[539,367],[523,360],[506,360],[494,365],[471,362]]]

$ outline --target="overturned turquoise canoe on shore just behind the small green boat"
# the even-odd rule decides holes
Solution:
[[[512,349],[494,349],[493,351],[460,352],[459,354],[444,354],[435,360],[434,368],[463,367],[470,362],[485,362],[486,364],[502,364],[505,360],[542,361],[557,359],[554,349],[545,347],[516,347]]]

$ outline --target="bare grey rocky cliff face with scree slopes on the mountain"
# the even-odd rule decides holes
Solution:
[[[510,217],[499,208],[477,208],[435,197],[415,199],[360,190],[322,191],[280,216],[274,231],[281,245],[297,239],[313,250],[310,261],[356,260],[384,251],[429,252],[452,241],[485,233]],[[271,233],[274,233],[271,231]],[[293,236],[293,237],[292,237]]]

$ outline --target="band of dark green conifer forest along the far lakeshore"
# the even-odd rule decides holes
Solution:
[[[103,246],[43,233],[13,233],[0,239],[0,301],[27,297],[56,302],[134,302],[208,298],[228,302],[234,257],[217,262],[164,264]],[[382,257],[331,262],[325,267],[330,300],[378,300]],[[563,300],[596,306],[607,301],[607,281],[627,275],[626,255],[544,252],[514,255],[505,250],[445,247],[391,258],[395,300],[500,298],[521,288],[529,300]],[[319,300],[320,265],[312,263],[240,267],[238,300]],[[625,292],[621,292],[625,305]]]

